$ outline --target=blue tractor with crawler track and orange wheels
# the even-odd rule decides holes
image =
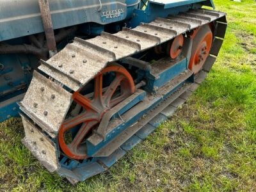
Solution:
[[[227,28],[212,8],[2,0],[0,122],[21,116],[22,143],[72,183],[104,172],[204,81]]]

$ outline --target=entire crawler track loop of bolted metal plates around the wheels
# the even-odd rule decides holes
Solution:
[[[168,99],[163,100],[159,106],[147,114],[147,120],[141,120],[144,121],[143,124],[134,125],[136,129],[129,127],[127,131],[132,130],[131,134],[125,140],[118,141],[118,147],[114,148],[115,150],[112,149],[105,155],[106,157],[99,157],[99,161],[83,169],[76,168],[71,171],[60,168],[56,160],[60,155],[59,149],[52,141],[56,140],[60,126],[72,104],[72,94],[67,90],[76,92],[92,80],[109,62],[127,58],[163,44],[180,34],[210,22],[216,24],[215,37],[210,55],[205,61],[203,70],[195,77],[195,83],[182,86],[180,90],[173,93],[175,96],[170,95]],[[173,111],[186,101],[198,84],[204,81],[218,56],[226,28],[225,13],[212,10],[191,10],[175,16],[170,15],[166,19],[157,18],[149,24],[141,23],[134,29],[123,28],[114,35],[103,32],[100,36],[89,40],[75,38],[72,44],[68,44],[51,59],[41,61],[39,70],[43,73],[34,72],[33,74],[28,92],[24,100],[20,102],[20,109],[24,113],[22,121],[26,131],[23,143],[45,168],[67,177],[70,182],[74,183],[104,172],[106,168],[124,156],[127,150],[154,131],[163,120],[170,117]],[[46,74],[49,78],[42,74]],[[47,141],[46,144],[45,141]],[[104,154],[107,148],[113,148],[111,143],[109,146],[106,145],[101,153]],[[100,156],[100,152],[98,155]],[[82,177],[80,172],[85,171],[88,174],[87,176],[83,174]]]

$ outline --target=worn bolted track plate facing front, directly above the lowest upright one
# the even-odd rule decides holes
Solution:
[[[52,137],[57,134],[72,102],[72,94],[34,72],[20,109]]]

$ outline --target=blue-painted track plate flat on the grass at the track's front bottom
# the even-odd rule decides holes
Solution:
[[[97,162],[88,163],[85,166],[80,166],[74,169],[72,172],[77,175],[79,180],[86,180],[94,175],[104,172],[105,169]],[[70,177],[70,176],[68,176]]]

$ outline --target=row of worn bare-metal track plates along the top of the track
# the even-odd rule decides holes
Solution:
[[[221,12],[202,11],[204,10],[170,15],[168,19],[157,18],[150,24],[141,23],[134,29],[123,28],[114,35],[103,32],[89,40],[75,38],[72,44],[68,44],[56,56],[46,61],[46,65],[42,63],[39,68],[76,91],[106,67],[108,62],[171,40],[180,33],[218,19],[216,14],[220,17],[225,15]]]

